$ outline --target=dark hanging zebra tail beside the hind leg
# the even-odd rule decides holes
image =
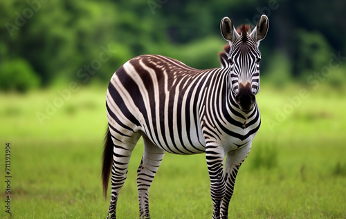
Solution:
[[[104,198],[107,198],[107,189],[109,182],[109,175],[111,173],[111,164],[113,162],[113,141],[111,140],[111,133],[109,127],[107,127],[107,133],[104,137],[104,151],[102,154],[102,184]]]

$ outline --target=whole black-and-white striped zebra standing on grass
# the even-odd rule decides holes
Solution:
[[[149,216],[149,187],[165,152],[206,153],[212,218],[228,218],[239,167],[260,128],[255,95],[260,91],[260,41],[268,32],[262,15],[255,28],[239,28],[224,17],[221,68],[197,70],[161,55],[140,55],[120,66],[106,96],[108,127],[102,181],[111,178],[107,218],[116,218],[119,191],[127,178],[131,152],[143,137],[137,170],[140,218]],[[226,159],[226,161],[225,161]]]

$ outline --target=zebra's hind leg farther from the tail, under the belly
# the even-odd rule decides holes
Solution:
[[[137,170],[137,189],[141,219],[149,219],[149,187],[160,166],[165,151],[143,136],[143,158]]]

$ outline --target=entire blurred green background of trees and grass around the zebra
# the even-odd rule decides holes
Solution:
[[[1,1],[1,202],[10,142],[14,218],[104,218],[104,97],[113,72],[142,54],[218,67],[221,19],[255,26],[266,14],[262,126],[239,171],[230,217],[346,218],[345,10],[338,0]],[[119,218],[138,216],[141,144]],[[204,156],[165,155],[150,204],[153,218],[211,218]]]

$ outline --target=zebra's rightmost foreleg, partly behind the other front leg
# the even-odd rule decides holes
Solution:
[[[227,154],[225,163],[226,192],[220,207],[220,218],[222,219],[228,218],[228,206],[233,196],[235,178],[237,177],[240,165],[242,165],[248,153],[250,153],[250,149],[251,145],[242,149],[230,151]]]

